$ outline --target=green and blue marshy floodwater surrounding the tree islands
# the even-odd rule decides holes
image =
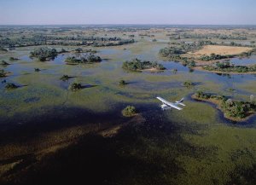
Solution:
[[[132,105],[137,108],[143,121],[125,124],[113,138],[84,136],[75,146],[67,147],[57,156],[45,159],[48,165],[39,165],[38,171],[49,175],[51,172],[48,168],[58,169],[56,174],[60,172],[67,175],[63,182],[69,179],[68,176],[69,180],[71,177],[83,179],[85,171],[92,174],[88,180],[92,181],[93,172],[96,172],[96,168],[102,169],[103,164],[104,171],[97,171],[97,181],[103,184],[112,184],[113,179],[113,184],[119,184],[126,178],[134,178],[142,184],[148,184],[149,181],[155,184],[229,182],[230,174],[240,174],[240,165],[244,167],[235,152],[246,151],[239,156],[247,159],[249,166],[255,163],[252,146],[255,144],[253,136],[256,116],[243,123],[230,122],[224,119],[223,113],[214,105],[194,101],[190,95],[197,90],[204,90],[249,101],[251,95],[256,96],[256,76],[191,71],[181,63],[162,61],[157,55],[159,49],[158,45],[140,52],[137,49],[118,47],[101,48],[96,54],[102,57],[101,63],[73,66],[65,63],[68,54],[58,55],[54,60],[46,62],[31,60],[27,55],[22,55],[19,61],[3,67],[12,73],[7,78],[1,78],[0,84],[1,140],[15,142],[15,138],[26,136],[35,139],[50,130],[77,125],[94,124],[99,128],[105,124],[122,125],[131,119],[123,117],[121,110]],[[122,63],[135,57],[159,61],[166,70],[125,72]],[[248,59],[232,59],[231,62],[236,65],[239,62],[253,64],[254,59],[253,55]],[[41,71],[35,72],[34,68]],[[63,82],[60,80],[63,74],[73,78]],[[128,84],[119,86],[120,79],[125,79]],[[20,88],[5,90],[4,80],[6,83],[19,84]],[[192,81],[195,86],[186,88],[183,86],[184,81]],[[81,83],[83,90],[68,90],[73,82]],[[187,106],[183,107],[182,112],[162,111],[156,96],[169,101],[185,97],[184,103]],[[79,162],[65,163],[66,153],[68,159]],[[86,159],[90,160],[90,165]],[[55,163],[62,165],[49,167]],[[195,175],[194,169],[201,173]],[[221,170],[216,172],[216,169]],[[215,174],[213,180],[209,178],[212,171]],[[38,182],[43,179],[38,175],[40,173],[30,171],[29,174],[35,176]],[[130,180],[128,182],[134,183]]]

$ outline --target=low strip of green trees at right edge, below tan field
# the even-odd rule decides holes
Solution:
[[[256,65],[252,66],[235,66],[230,61],[216,62],[216,66],[203,66],[208,71],[218,72],[256,72]]]

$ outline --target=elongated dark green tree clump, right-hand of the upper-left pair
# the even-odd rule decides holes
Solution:
[[[82,57],[70,56],[66,59],[67,63],[96,63],[101,61],[102,58],[96,55],[86,55]]]

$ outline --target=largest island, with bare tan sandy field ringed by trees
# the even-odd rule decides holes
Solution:
[[[171,43],[169,47],[159,51],[160,56],[168,60],[180,61],[183,66],[218,73],[256,73],[256,65],[235,66],[226,61],[219,61],[234,57],[248,57],[254,53],[256,49],[252,47],[241,47],[241,44],[232,42],[221,45],[211,41]]]

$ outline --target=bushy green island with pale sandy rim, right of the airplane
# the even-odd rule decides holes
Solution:
[[[236,122],[245,121],[256,113],[256,101],[238,101],[224,95],[212,95],[202,91],[196,92],[191,97],[198,101],[212,102],[224,113],[224,118]]]

